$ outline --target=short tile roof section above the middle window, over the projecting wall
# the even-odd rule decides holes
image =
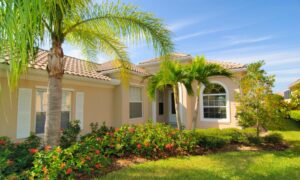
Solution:
[[[130,70],[132,72],[136,72],[141,75],[149,75],[149,73],[147,73],[145,69],[138,67],[137,65],[130,62],[126,63],[125,67],[127,70]],[[107,74],[111,70],[119,70],[120,68],[121,64],[119,61],[108,61],[98,65],[98,72],[100,72],[101,74]]]

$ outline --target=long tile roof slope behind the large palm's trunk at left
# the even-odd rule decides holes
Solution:
[[[36,55],[35,61],[31,62],[28,67],[33,69],[46,70],[47,68],[47,56],[49,51],[39,49]],[[99,80],[111,80],[110,77],[104,76],[97,72],[98,65],[97,63],[81,60],[78,58],[65,56],[65,74],[99,79]],[[9,64],[9,57],[4,57],[4,60],[0,59],[0,63]]]

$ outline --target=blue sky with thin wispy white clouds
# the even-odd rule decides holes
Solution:
[[[172,31],[176,52],[207,59],[251,63],[265,60],[276,75],[274,91],[300,78],[299,0],[124,0],[163,19]],[[64,45],[65,54],[82,57]],[[131,61],[153,58],[141,43],[129,47]],[[108,60],[99,55],[98,62]]]

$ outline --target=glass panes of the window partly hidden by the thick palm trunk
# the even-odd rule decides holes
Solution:
[[[71,96],[70,91],[62,92],[62,107],[61,107],[61,128],[65,129],[71,118]],[[47,110],[47,90],[38,89],[36,91],[36,123],[35,132],[37,134],[44,133],[45,121],[46,121],[46,110]]]

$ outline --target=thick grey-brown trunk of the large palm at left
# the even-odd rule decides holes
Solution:
[[[48,56],[48,106],[45,123],[45,145],[57,146],[60,139],[62,77],[64,74],[63,50],[53,43]]]

